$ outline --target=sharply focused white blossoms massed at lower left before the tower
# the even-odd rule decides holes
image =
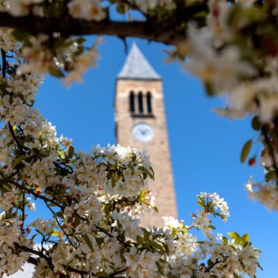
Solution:
[[[18,71],[26,65],[23,46],[7,29],[0,47],[1,272],[32,263],[34,278],[255,277],[259,250],[247,234],[213,233],[210,215],[229,216],[216,193],[197,197],[201,209],[189,225],[167,217],[165,227],[142,227],[140,213],[156,210],[147,152],[120,145],[76,152],[33,108],[43,77],[31,64]],[[31,221],[36,204],[51,218]],[[190,229],[201,230],[203,240]]]

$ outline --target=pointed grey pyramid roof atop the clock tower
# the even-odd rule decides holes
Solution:
[[[133,42],[129,56],[127,56],[117,79],[161,80],[161,76],[149,64],[137,44]]]

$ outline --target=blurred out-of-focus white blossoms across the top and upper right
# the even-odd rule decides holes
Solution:
[[[14,17],[66,15],[67,19],[95,24],[109,23],[114,16],[111,10],[116,10],[126,15],[123,20],[139,23],[143,19],[147,26],[144,30],[150,26],[148,32],[154,31],[154,40],[161,32],[156,25],[165,26],[162,41],[169,38],[175,47],[168,60],[180,60],[186,70],[202,80],[208,95],[224,95],[227,99],[225,108],[215,108],[218,115],[234,119],[249,114],[256,119],[256,141],[261,141],[262,152],[271,158],[271,165],[263,166],[266,173],[271,173],[265,175],[265,182],[274,186],[278,180],[277,7],[275,1],[254,0],[0,0],[0,11]],[[142,18],[137,13],[133,16],[134,11]],[[151,26],[152,22],[156,24]],[[19,44],[7,40],[11,31],[1,30],[2,49],[13,49],[26,60],[17,67],[17,74],[49,72],[70,85],[81,81],[99,58],[99,40],[85,47],[83,38],[55,32],[34,36],[13,31],[13,38],[22,43],[19,54]],[[256,163],[257,155],[250,158],[250,165]]]

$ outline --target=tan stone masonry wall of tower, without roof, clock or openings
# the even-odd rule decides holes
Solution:
[[[152,111],[154,117],[131,117],[129,111],[129,93],[152,93]],[[142,216],[142,222],[147,226],[161,226],[162,216],[172,215],[177,218],[177,205],[172,178],[170,150],[167,138],[167,125],[163,102],[162,82],[117,80],[115,98],[115,121],[117,124],[117,142],[123,146],[147,149],[154,165],[155,181],[149,183],[149,189],[156,197],[155,203],[159,213]],[[133,126],[145,122],[154,129],[154,137],[148,142],[139,142],[133,138]]]

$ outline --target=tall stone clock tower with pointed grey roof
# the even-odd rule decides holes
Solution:
[[[117,142],[123,146],[147,149],[154,165],[155,181],[149,183],[158,213],[143,215],[148,226],[163,224],[162,216],[177,218],[162,79],[133,43],[115,92]]]

